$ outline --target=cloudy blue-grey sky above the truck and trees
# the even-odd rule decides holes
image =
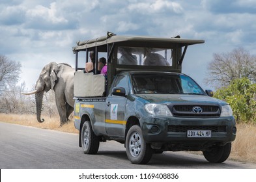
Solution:
[[[1,0],[0,55],[21,63],[20,83],[33,90],[49,62],[74,67],[76,42],[145,35],[205,40],[188,47],[182,73],[203,89],[214,53],[244,47],[256,55],[255,0]]]

